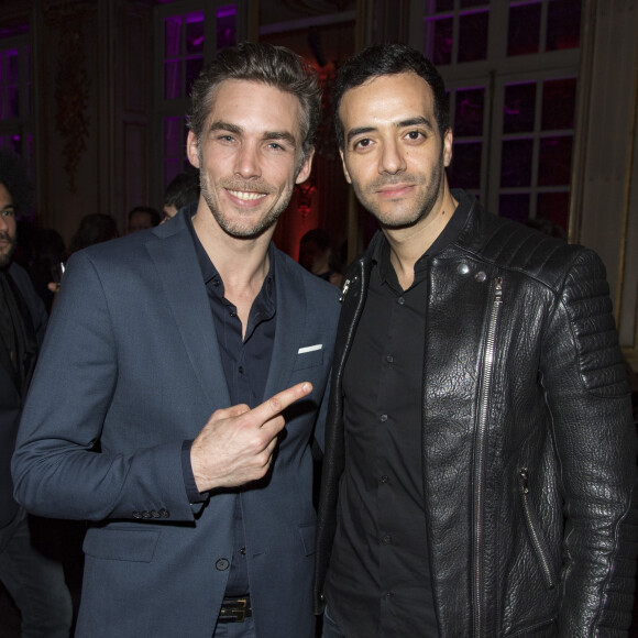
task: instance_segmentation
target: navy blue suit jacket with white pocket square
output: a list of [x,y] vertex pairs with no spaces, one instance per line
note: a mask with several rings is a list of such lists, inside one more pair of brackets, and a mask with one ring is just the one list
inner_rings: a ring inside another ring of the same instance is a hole
[[33,513],[94,521],[76,636],[210,638],[241,498],[257,636],[310,637],[309,443],[322,444],[339,290],[276,251],[265,398],[301,381],[314,391],[289,408],[264,481],[190,504],[183,441],[230,399],[183,215],[69,260],[23,413],[15,494]]

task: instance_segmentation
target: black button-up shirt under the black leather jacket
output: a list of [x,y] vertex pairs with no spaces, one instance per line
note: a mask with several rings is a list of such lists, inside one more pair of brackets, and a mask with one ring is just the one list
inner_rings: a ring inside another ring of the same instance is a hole
[[407,290],[385,239],[373,254],[343,373],[345,472],[326,583],[330,615],[353,638],[438,635],[421,451],[428,270],[459,234],[466,212],[458,209],[417,261]]

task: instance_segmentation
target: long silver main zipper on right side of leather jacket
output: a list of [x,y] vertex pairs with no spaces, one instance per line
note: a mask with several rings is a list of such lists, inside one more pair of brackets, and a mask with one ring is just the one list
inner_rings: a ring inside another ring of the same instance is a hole
[[487,430],[487,408],[494,369],[496,323],[503,306],[503,278],[497,277],[494,286],[492,314],[487,324],[485,358],[483,361],[483,387],[481,392],[479,427],[476,430],[476,457],[474,464],[474,632],[483,636],[483,463],[485,432]]

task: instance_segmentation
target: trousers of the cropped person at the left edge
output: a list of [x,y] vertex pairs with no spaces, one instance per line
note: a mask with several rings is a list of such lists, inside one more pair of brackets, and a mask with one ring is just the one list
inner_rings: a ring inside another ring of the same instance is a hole
[[0,529],[0,580],[22,615],[22,638],[68,638],[73,603],[63,566],[31,544],[22,507]]

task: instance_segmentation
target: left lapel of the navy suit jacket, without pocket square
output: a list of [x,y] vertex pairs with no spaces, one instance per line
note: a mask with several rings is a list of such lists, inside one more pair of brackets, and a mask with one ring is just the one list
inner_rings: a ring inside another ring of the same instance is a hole
[[146,248],[204,393],[212,406],[227,407],[230,397],[215,322],[193,238],[182,215],[157,227],[156,237]]

